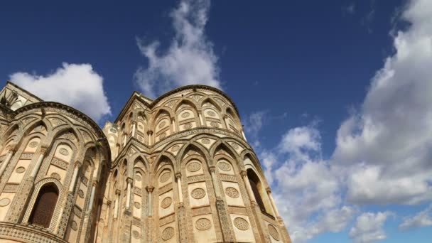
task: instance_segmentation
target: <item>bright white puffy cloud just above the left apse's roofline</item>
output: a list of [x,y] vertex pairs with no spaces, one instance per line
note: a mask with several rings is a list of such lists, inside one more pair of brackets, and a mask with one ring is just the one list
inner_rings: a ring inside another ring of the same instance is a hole
[[90,64],[63,63],[61,68],[45,76],[15,72],[10,80],[45,101],[68,104],[95,121],[111,114],[103,78]]

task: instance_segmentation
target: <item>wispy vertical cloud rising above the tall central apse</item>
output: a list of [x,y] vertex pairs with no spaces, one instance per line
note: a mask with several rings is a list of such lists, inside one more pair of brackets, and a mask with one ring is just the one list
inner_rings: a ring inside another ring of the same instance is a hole
[[175,36],[161,54],[159,43],[138,40],[148,67],[139,68],[135,80],[144,95],[156,97],[182,85],[203,84],[220,88],[217,56],[205,36],[210,0],[183,0],[171,12]]

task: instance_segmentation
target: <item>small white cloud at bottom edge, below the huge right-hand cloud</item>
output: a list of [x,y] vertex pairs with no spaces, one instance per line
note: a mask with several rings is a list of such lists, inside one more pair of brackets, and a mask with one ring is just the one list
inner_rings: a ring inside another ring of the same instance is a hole
[[387,235],[384,232],[384,223],[392,212],[364,212],[357,217],[355,226],[350,230],[350,237],[355,242],[367,243],[375,242],[380,239],[386,239]]

